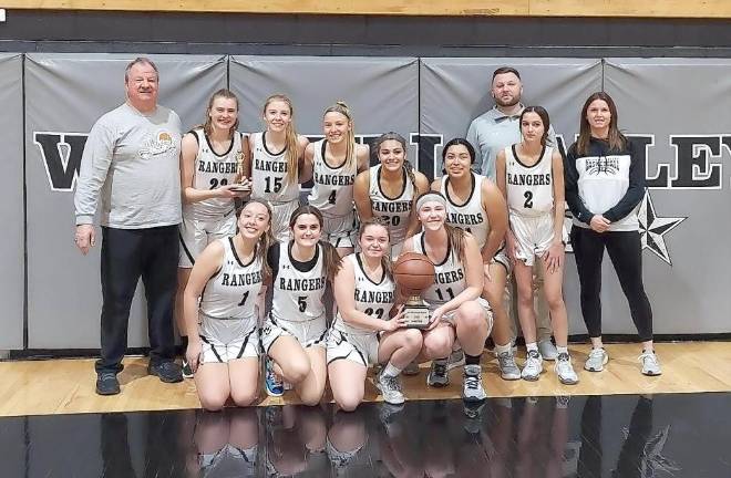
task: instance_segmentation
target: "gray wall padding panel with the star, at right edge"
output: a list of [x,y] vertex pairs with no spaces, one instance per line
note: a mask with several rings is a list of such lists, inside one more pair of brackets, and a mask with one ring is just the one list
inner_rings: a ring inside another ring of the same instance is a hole
[[[656,332],[729,332],[731,60],[607,59],[605,90],[622,128],[652,143],[642,260]],[[607,285],[607,299],[621,298]],[[608,332],[631,330],[625,301],[604,304],[606,318],[620,319]]]

